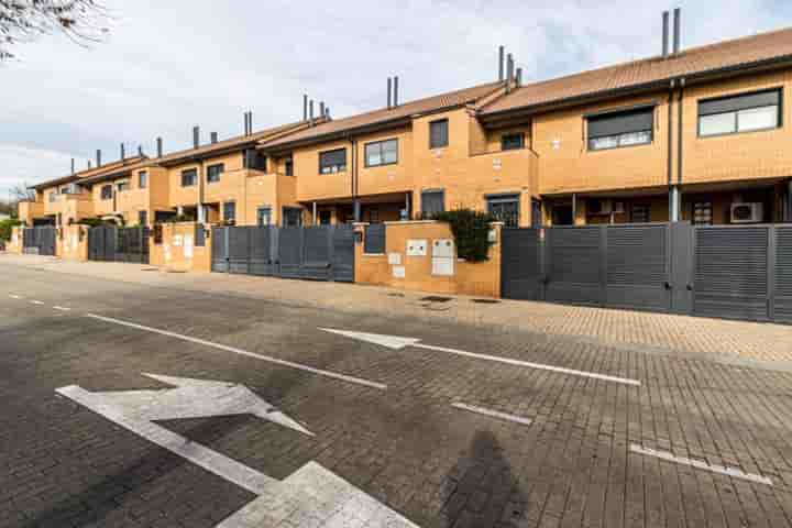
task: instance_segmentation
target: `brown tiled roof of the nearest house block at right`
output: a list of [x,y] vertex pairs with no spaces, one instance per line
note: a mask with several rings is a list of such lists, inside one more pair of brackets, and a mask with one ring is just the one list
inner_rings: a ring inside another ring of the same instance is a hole
[[678,55],[654,56],[575,75],[524,85],[480,109],[483,118],[496,113],[595,96],[619,89],[670,81],[682,76],[760,66],[792,58],[792,29],[691,47]]

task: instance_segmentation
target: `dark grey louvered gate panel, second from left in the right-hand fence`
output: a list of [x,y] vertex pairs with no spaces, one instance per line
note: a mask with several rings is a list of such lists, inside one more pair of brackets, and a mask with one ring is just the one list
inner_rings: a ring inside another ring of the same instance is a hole
[[602,237],[600,227],[546,230],[547,300],[602,305]]

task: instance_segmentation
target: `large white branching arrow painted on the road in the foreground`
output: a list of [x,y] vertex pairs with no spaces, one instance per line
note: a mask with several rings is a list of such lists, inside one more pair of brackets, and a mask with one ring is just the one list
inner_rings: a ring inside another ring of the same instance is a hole
[[308,518],[318,520],[316,526],[328,527],[416,526],[315,462],[278,481],[154,422],[254,415],[314,436],[248,387],[226,382],[144,375],[175,388],[91,393],[69,385],[56,392],[258,496],[217,528],[280,526],[282,522],[286,524],[284,526],[297,526],[299,522],[288,522]]

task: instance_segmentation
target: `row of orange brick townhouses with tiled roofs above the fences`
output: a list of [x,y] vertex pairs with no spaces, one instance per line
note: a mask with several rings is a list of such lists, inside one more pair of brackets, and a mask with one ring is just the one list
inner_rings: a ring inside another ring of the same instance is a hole
[[[664,18],[668,21],[668,16]],[[280,226],[471,207],[507,226],[792,221],[792,30],[524,82],[498,78],[45,182],[28,224]],[[391,81],[388,81],[388,85]],[[397,85],[396,85],[397,86]],[[160,150],[161,151],[161,150]]]

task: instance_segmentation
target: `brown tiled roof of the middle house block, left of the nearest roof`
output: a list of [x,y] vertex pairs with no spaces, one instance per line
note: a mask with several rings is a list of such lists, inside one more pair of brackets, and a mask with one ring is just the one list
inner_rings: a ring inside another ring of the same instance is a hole
[[503,86],[503,82],[487,82],[472,88],[464,88],[462,90],[449,91],[438,96],[404,102],[394,108],[381,108],[371,112],[351,116],[349,118],[327,121],[324,123],[307,128],[302,131],[295,132],[294,134],[288,134],[285,138],[266,142],[266,144],[262,144],[262,146],[283,147],[292,144],[310,143],[315,140],[323,140],[328,136],[351,132],[355,129],[408,119],[410,116],[417,113],[459,107],[476,101]]

